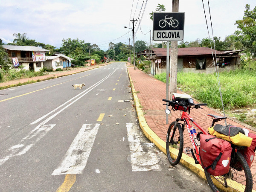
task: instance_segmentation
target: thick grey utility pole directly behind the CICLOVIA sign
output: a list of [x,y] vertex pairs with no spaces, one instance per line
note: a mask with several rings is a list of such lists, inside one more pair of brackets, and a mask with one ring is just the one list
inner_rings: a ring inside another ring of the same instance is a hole
[[[172,12],[179,12],[179,0],[172,0]],[[170,98],[177,92],[178,41],[171,41]]]

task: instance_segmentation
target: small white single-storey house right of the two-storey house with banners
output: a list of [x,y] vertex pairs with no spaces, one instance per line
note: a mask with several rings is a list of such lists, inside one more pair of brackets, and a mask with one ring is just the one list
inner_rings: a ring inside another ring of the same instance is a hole
[[55,71],[57,68],[71,67],[71,62],[73,58],[69,58],[66,55],[55,53],[52,56],[46,56],[46,61],[44,62],[44,67],[48,70]]

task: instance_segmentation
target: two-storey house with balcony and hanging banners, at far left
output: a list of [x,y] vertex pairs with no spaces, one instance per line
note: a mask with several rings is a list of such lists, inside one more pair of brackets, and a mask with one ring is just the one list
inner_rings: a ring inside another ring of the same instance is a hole
[[3,45],[3,48],[15,68],[22,65],[25,70],[34,71],[39,71],[44,67],[45,52],[49,51],[35,46]]

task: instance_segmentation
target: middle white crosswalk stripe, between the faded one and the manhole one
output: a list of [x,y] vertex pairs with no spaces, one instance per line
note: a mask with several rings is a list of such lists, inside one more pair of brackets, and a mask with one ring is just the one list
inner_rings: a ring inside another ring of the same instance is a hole
[[62,163],[55,169],[52,175],[81,174],[86,166],[90,151],[93,147],[99,125],[84,124],[70,148],[62,160]]

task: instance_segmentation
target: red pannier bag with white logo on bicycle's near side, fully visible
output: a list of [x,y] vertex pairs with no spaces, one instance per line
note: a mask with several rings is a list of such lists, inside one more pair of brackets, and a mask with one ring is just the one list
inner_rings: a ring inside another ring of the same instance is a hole
[[213,135],[200,134],[201,166],[213,176],[229,172],[232,147],[228,141]]

